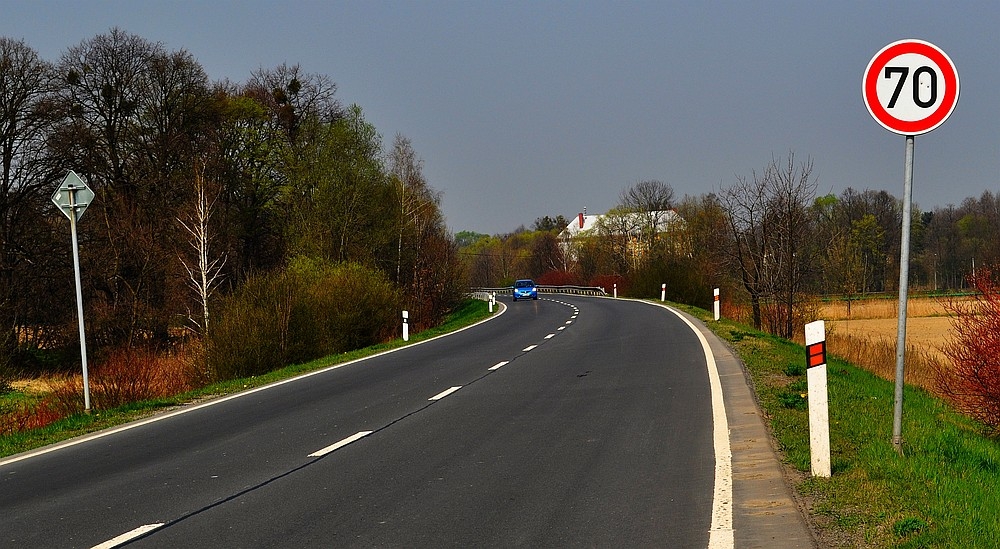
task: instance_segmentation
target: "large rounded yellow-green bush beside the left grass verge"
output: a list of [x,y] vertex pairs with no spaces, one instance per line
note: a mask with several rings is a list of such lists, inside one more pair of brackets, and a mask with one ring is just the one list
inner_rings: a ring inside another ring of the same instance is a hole
[[386,341],[398,302],[381,271],[296,259],[222,300],[206,345],[209,369],[220,380],[248,377]]

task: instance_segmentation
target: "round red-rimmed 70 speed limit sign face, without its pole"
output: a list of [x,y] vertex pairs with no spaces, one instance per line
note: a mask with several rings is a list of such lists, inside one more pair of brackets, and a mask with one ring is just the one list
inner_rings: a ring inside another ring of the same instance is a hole
[[958,104],[958,70],[940,48],[900,40],[868,63],[861,93],[872,118],[885,129],[919,135],[940,126]]

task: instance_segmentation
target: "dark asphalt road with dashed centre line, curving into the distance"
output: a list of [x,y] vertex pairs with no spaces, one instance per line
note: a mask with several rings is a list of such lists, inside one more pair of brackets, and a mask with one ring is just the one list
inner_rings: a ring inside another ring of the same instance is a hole
[[691,328],[624,300],[507,306],[0,462],[0,546],[707,547],[712,395]]

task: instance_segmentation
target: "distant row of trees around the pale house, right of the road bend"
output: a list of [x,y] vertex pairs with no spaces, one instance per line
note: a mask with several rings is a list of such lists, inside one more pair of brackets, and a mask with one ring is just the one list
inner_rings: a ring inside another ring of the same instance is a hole
[[[677,200],[668,184],[640,181],[572,241],[559,235],[575,218],[557,216],[506,235],[460,233],[459,244],[473,285],[531,276],[654,297],[666,283],[672,299],[698,305],[722,287],[748,305],[755,326],[791,336],[806,295],[850,300],[899,283],[901,201],[886,191],[816,191],[812,161],[789,152],[717,193]],[[666,210],[683,222],[664,229],[656,216]],[[977,262],[1000,260],[1000,196],[912,215],[911,288],[962,289]],[[645,221],[626,226],[636,219]]]

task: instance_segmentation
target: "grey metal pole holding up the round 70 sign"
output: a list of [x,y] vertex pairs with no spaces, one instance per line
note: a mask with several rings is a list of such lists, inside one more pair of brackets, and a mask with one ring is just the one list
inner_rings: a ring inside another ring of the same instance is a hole
[[910,279],[910,198],[913,194],[913,136],[906,136],[903,161],[903,235],[899,251],[899,325],[896,329],[896,404],[892,416],[892,445],[903,453],[903,379],[906,356],[906,300]]

